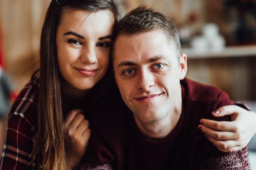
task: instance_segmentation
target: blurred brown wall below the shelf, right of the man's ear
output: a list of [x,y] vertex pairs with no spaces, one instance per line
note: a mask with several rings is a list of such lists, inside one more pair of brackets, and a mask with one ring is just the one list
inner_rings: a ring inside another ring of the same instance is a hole
[[233,101],[256,100],[256,56],[190,59],[187,77],[226,91]]

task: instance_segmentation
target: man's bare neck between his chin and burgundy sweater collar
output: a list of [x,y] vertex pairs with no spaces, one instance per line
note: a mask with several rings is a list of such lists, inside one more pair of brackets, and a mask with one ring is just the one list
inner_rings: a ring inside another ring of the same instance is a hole
[[140,122],[135,119],[140,131],[150,138],[164,138],[168,136],[177,125],[182,112],[182,97],[181,91],[178,95],[176,103],[171,107],[170,113],[166,114],[163,119],[154,122]]

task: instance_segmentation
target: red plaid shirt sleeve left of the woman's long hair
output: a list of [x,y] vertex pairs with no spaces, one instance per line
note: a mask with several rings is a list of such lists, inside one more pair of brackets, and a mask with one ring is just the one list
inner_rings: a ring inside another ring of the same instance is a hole
[[0,170],[34,170],[31,153],[37,135],[39,79],[21,90],[8,116]]

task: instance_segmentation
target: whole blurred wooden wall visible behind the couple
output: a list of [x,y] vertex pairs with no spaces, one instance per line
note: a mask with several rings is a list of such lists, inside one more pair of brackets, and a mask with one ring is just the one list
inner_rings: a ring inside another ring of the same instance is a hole
[[[0,0],[5,71],[11,76],[17,91],[39,67],[40,33],[50,1]],[[124,12],[140,4],[152,6],[170,17],[178,27],[191,24],[194,34],[198,34],[205,22],[217,22],[221,33],[229,31],[229,27],[225,26],[223,11],[221,12],[223,0],[117,0],[117,2],[123,6]],[[212,9],[212,6],[215,8]],[[188,16],[193,13],[198,16],[197,22],[192,24],[188,22]],[[248,66],[256,64],[255,59],[234,61],[232,59],[189,60],[188,77],[226,90],[233,100],[255,99],[251,91],[254,91],[253,94],[256,96],[254,87],[256,78],[250,78],[250,73],[255,72],[256,67]],[[246,90],[246,87],[249,89]]]

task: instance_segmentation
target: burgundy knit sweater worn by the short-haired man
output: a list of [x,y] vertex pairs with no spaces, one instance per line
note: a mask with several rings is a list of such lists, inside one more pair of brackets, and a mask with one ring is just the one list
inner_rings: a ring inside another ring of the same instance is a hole
[[233,104],[228,95],[189,79],[181,88],[181,117],[163,139],[143,136],[120,97],[102,103],[90,118],[92,134],[80,170],[251,170],[247,148],[222,153],[197,129],[201,118],[230,119],[211,114]]

